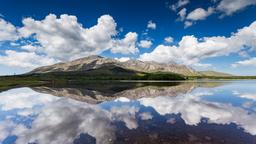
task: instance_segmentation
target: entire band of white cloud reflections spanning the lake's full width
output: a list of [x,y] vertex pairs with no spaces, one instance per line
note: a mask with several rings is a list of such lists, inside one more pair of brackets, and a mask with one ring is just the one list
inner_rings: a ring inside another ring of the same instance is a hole
[[[215,95],[212,89],[196,89],[177,96],[120,97],[102,104],[88,104],[29,88],[13,89],[0,93],[0,142],[15,135],[17,144],[73,143],[81,134],[87,134],[98,144],[114,143],[120,128],[117,123],[121,122],[127,130],[135,130],[141,128],[140,121],[153,122],[155,113],[163,117],[180,115],[191,126],[199,125],[204,118],[212,124],[234,123],[256,135],[254,111],[204,99]],[[31,121],[20,121],[20,117]],[[166,122],[177,124],[174,118]]]

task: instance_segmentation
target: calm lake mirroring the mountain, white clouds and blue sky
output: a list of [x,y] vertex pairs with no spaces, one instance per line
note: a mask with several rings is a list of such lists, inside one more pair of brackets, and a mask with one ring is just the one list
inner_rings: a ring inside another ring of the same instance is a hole
[[2,144],[255,144],[256,81],[92,82],[0,92]]

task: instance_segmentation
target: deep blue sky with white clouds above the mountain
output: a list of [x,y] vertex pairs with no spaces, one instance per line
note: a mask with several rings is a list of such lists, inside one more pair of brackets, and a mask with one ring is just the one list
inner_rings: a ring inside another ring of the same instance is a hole
[[256,75],[256,0],[0,3],[0,75],[89,55]]

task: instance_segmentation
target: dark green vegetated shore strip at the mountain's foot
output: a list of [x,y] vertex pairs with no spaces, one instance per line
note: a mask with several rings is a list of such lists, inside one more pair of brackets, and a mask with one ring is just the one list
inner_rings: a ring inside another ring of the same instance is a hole
[[46,74],[26,74],[0,77],[0,91],[21,86],[66,85],[87,83],[89,81],[119,80],[185,80],[175,73],[136,73],[133,71],[109,70],[86,72],[55,72]]

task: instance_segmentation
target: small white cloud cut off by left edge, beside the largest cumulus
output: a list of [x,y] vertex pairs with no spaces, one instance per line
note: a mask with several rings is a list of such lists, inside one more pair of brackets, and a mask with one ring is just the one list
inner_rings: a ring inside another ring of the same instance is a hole
[[16,27],[0,18],[0,41],[13,41],[18,39]]

